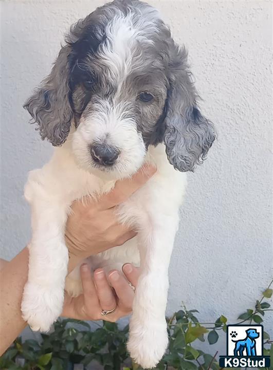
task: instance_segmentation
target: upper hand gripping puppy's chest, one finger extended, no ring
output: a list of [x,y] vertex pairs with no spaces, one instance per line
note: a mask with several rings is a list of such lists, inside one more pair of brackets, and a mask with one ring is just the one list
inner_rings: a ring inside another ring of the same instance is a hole
[[154,167],[145,164],[132,178],[117,181],[115,188],[98,200],[86,198],[85,202],[78,200],[72,204],[65,231],[70,258],[76,257],[79,263],[91,254],[122,245],[135,236],[133,230],[119,223],[115,207],[128,199],[155,172]]

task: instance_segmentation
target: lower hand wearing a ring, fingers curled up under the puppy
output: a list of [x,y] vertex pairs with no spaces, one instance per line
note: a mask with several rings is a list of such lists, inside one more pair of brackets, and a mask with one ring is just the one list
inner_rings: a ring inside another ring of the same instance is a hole
[[[108,283],[103,269],[94,272],[94,280],[87,264],[81,266],[81,279],[83,293],[76,298],[65,293],[62,316],[77,320],[106,320],[115,322],[119,318],[129,315],[132,311],[134,290],[129,285],[136,287],[139,270],[131,264],[122,266],[126,279],[117,270],[108,273]],[[102,316],[102,310],[113,310]]]

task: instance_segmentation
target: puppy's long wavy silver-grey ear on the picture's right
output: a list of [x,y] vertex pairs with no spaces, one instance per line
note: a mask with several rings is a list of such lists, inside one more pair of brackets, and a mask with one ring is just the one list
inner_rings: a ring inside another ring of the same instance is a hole
[[169,162],[181,172],[193,171],[206,158],[214,139],[213,124],[199,112],[185,48],[170,45],[165,145]]

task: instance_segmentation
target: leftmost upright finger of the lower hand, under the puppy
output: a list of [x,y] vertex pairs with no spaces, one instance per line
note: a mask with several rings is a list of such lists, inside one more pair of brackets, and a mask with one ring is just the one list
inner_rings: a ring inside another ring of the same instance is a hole
[[87,264],[81,266],[81,279],[82,279],[82,290],[83,297],[86,306],[88,307],[100,307],[97,290],[92,279],[90,268]]

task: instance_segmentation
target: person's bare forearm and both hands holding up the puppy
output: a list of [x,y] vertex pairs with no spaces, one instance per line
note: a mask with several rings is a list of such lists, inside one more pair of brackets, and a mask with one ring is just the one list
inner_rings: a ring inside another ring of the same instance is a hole
[[[72,205],[65,233],[69,251],[68,272],[90,254],[121,245],[135,235],[134,231],[118,223],[115,207],[129,198],[155,171],[155,168],[145,166],[131,179],[117,181],[115,188],[98,200],[77,201]],[[21,301],[28,276],[28,248],[24,248],[10,262],[2,262],[2,266],[0,354],[5,352],[27,325],[22,319]],[[116,321],[128,315],[134,298],[134,291],[128,282],[136,286],[138,270],[131,264],[125,264],[123,273],[126,279],[117,270],[112,270],[108,273],[107,280],[103,269],[95,270],[92,276],[83,264],[83,294],[71,298],[65,293],[62,316],[79,320],[101,320],[101,310],[113,308],[116,308],[115,312],[105,316],[104,320]]]

